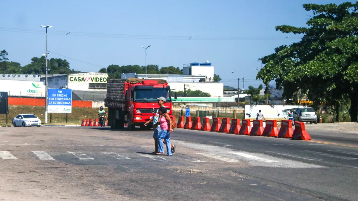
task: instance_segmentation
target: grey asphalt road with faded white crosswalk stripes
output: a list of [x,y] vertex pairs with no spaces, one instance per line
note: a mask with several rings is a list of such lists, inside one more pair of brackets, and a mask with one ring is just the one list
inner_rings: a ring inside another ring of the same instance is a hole
[[175,129],[0,128],[0,200],[358,200],[358,134],[311,141]]

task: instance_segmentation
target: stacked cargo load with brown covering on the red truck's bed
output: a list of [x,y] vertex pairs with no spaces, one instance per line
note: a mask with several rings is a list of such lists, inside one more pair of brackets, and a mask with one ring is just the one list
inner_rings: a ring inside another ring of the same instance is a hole
[[[105,99],[106,107],[119,107],[124,108],[125,102],[125,83],[131,84],[141,83],[145,79],[128,78],[128,79],[110,79],[107,82],[107,98]],[[165,84],[164,79],[151,79],[156,80],[159,84]]]

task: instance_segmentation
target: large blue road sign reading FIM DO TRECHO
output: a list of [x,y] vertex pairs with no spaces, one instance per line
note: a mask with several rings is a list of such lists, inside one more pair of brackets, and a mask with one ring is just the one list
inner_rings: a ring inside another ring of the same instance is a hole
[[72,89],[48,89],[47,112],[71,113]]

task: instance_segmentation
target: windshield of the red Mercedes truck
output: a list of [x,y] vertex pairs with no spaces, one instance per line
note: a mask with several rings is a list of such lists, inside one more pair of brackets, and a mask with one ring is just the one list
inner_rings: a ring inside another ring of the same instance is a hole
[[153,88],[153,90],[135,90],[135,101],[148,101],[148,102],[157,102],[159,97],[165,97],[167,101],[171,101],[170,92],[166,88]]

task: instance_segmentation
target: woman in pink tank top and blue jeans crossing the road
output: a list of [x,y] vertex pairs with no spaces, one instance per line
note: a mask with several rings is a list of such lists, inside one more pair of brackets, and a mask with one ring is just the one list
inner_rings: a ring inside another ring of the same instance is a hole
[[[170,133],[173,132],[173,129],[171,129],[171,119],[169,114],[166,113],[166,109],[164,107],[159,108],[159,115],[159,121],[155,124],[155,126],[160,124],[161,128],[161,131],[158,134],[159,153],[156,155],[171,156]],[[166,144],[166,154],[164,154],[163,139]]]

